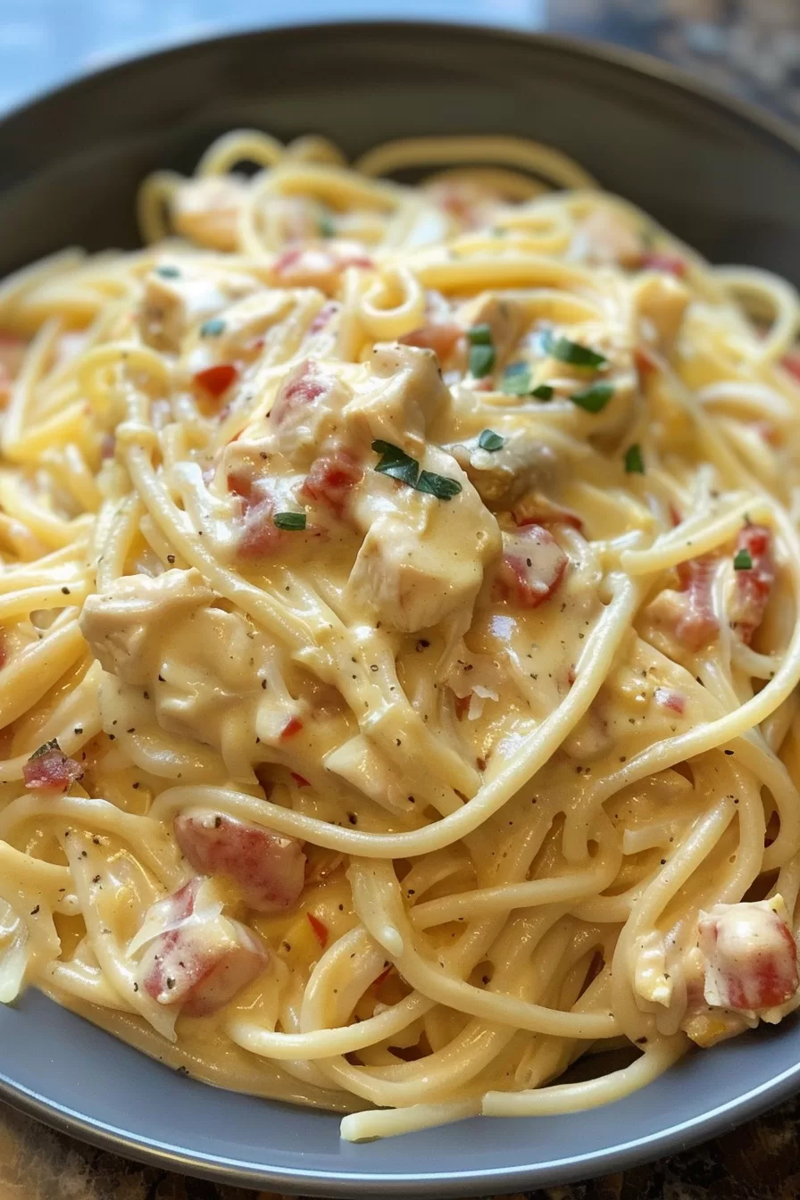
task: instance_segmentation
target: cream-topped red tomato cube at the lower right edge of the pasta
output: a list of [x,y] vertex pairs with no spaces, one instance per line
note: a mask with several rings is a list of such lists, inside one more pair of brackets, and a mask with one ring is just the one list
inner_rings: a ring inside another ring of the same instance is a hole
[[757,1013],[792,1000],[800,985],[798,947],[775,911],[777,900],[718,904],[710,913],[700,913],[706,1003]]

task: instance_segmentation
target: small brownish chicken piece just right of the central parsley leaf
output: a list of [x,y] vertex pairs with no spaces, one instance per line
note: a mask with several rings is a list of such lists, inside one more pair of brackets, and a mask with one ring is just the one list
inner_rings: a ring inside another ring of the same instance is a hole
[[506,434],[500,450],[481,450],[477,443],[458,443],[449,449],[483,503],[492,508],[513,504],[555,476],[555,452],[527,430]]

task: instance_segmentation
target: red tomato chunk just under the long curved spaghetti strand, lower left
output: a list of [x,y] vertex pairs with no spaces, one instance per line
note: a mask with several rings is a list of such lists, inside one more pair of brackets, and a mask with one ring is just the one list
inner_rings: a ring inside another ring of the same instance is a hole
[[300,896],[306,856],[295,838],[210,809],[179,814],[174,829],[194,870],[233,880],[257,912],[282,912]]

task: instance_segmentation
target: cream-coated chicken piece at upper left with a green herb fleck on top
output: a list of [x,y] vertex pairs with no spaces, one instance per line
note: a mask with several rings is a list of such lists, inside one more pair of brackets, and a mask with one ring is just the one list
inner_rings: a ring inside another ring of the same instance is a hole
[[190,329],[222,312],[231,300],[255,289],[247,275],[224,276],[185,264],[163,263],[144,280],[137,322],[142,338],[156,350],[178,354]]

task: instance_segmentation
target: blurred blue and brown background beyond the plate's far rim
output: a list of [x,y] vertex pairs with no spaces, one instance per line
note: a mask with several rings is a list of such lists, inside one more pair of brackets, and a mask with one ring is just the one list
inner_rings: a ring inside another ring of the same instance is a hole
[[162,46],[392,14],[618,42],[800,119],[800,0],[403,0],[399,10],[381,0],[0,0],[0,110]]

